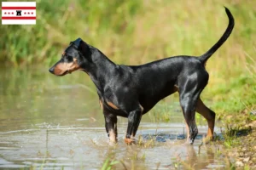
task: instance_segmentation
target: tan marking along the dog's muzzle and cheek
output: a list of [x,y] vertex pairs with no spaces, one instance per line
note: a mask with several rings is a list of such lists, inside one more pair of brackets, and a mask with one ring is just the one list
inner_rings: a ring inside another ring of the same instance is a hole
[[73,59],[73,62],[71,63],[59,63],[58,65],[55,65],[55,75],[63,75],[66,71],[67,73],[72,73],[73,71],[79,70],[79,64],[77,62],[77,59]]

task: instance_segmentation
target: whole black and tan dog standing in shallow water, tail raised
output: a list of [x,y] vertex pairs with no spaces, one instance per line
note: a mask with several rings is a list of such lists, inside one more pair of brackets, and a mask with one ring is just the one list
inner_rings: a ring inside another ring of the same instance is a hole
[[209,74],[207,59],[230,37],[235,21],[228,8],[229,26],[224,35],[207,53],[199,57],[174,56],[156,60],[145,65],[115,65],[102,52],[81,38],[70,42],[49,72],[64,76],[73,71],[86,72],[95,83],[109,140],[117,142],[117,116],[128,118],[125,143],[131,144],[143,114],[150,111],[160,99],[175,92],[185,118],[188,142],[193,144],[198,133],[195,111],[207,119],[207,139],[213,139],[215,113],[200,99],[207,86]]

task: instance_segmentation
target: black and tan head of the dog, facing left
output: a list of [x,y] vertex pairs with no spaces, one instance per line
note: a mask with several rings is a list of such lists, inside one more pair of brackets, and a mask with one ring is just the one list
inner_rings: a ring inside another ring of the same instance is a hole
[[84,67],[91,61],[90,46],[81,38],[70,42],[69,46],[61,55],[61,59],[55,63],[49,72],[56,76],[65,76]]

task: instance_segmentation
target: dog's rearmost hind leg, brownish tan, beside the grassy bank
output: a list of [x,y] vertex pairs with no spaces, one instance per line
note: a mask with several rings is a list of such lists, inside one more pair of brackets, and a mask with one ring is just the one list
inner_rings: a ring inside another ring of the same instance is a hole
[[197,100],[195,111],[207,119],[207,123],[208,123],[208,132],[207,132],[207,138],[206,138],[207,141],[213,139],[213,131],[214,131],[214,123],[215,123],[214,111],[210,110],[206,105],[204,105],[204,103],[200,98]]

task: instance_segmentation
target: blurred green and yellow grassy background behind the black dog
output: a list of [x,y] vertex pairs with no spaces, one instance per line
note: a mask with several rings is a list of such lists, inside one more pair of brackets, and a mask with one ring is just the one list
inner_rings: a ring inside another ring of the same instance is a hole
[[207,62],[210,81],[202,98],[212,101],[219,113],[247,114],[256,109],[256,1],[252,0],[38,0],[37,25],[0,26],[1,65],[18,69],[37,65],[47,71],[78,37],[117,64],[201,55],[228,25],[223,6],[230,8],[236,26]]

